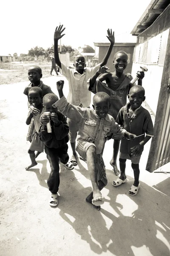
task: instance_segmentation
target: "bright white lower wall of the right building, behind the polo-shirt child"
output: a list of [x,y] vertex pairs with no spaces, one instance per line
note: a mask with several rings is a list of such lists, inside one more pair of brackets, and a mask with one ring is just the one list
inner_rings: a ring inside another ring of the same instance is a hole
[[[157,64],[144,64],[148,68],[145,72],[142,86],[145,90],[146,102],[152,109],[153,113],[156,114],[156,108],[158,105],[159,91],[161,88],[161,79],[163,73],[163,66]],[[140,68],[140,63],[133,63],[132,76],[136,75],[136,72]],[[136,82],[137,84],[137,82]]]

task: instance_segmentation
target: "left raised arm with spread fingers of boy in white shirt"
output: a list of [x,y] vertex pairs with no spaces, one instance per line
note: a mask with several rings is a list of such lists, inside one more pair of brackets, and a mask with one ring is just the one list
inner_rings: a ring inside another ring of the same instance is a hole
[[61,35],[61,33],[65,30],[62,29],[63,25],[59,25],[59,27],[57,26],[55,32],[54,32],[54,59],[55,59],[55,63],[59,66],[59,68],[61,68],[61,61],[59,59],[59,53],[58,53],[58,41],[60,38],[63,37],[63,35]]

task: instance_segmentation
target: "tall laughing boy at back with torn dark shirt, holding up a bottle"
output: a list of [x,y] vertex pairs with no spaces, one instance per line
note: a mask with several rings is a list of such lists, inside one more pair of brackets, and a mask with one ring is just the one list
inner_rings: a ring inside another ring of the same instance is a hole
[[[93,79],[88,83],[88,90],[93,93],[104,91],[108,93],[111,100],[111,108],[109,114],[116,119],[119,110],[126,105],[127,102],[127,94],[130,88],[135,85],[130,85],[130,81],[133,79],[130,73],[124,73],[125,68],[127,67],[127,53],[124,51],[116,52],[114,55],[113,65],[115,67],[115,71],[113,73],[108,72],[108,70],[99,70],[96,72]],[[102,76],[97,79],[97,77],[104,73]],[[144,72],[140,72],[141,75],[136,74],[138,79],[138,85],[142,85],[142,79],[144,78]],[[106,81],[104,84],[102,81]],[[117,155],[119,151],[120,138],[118,136],[113,136],[113,157],[110,161],[111,166],[116,175],[119,174],[119,170],[117,168]]]

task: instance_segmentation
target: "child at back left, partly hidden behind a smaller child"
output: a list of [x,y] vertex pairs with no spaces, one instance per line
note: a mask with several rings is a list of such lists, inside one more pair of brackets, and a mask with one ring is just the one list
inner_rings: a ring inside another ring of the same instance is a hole
[[[28,97],[29,90],[34,87],[40,87],[42,89],[42,97],[47,93],[53,93],[51,88],[48,85],[43,84],[41,81],[42,78],[42,70],[38,66],[32,66],[28,69],[28,79],[30,80],[30,84],[26,86],[24,90],[24,94]],[[28,98],[28,107],[29,107],[29,98]],[[34,119],[32,118],[31,123],[29,125],[27,140],[32,141],[32,138],[35,134],[35,127],[34,127]]]

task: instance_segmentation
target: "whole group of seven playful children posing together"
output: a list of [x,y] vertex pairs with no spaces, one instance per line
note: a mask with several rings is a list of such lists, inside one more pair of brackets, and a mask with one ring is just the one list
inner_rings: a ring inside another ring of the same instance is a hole
[[[28,70],[31,84],[24,93],[28,96],[30,104],[26,123],[35,132],[31,137],[28,154],[31,165],[26,170],[37,165],[36,157],[45,148],[45,153],[51,166],[48,178],[48,187],[51,191],[50,205],[58,204],[59,189],[59,162],[67,169],[77,165],[77,152],[80,159],[87,163],[93,191],[87,196],[86,201],[93,204],[96,209],[104,203],[101,190],[107,185],[105,164],[102,158],[105,143],[113,138],[113,158],[111,166],[116,175],[119,170],[116,159],[120,146],[119,165],[120,177],[113,180],[113,186],[119,186],[127,181],[125,175],[126,160],[132,162],[134,183],[129,190],[133,196],[139,190],[139,160],[145,143],[153,136],[153,123],[149,112],[141,105],[145,100],[142,87],[143,72],[138,72],[138,85],[130,85],[132,76],[125,74],[127,67],[127,54],[123,51],[114,55],[113,64],[115,72],[109,72],[105,67],[114,45],[114,32],[108,29],[107,38],[111,42],[108,52],[102,62],[96,67],[88,68],[85,58],[78,55],[75,58],[75,69],[66,67],[59,60],[58,40],[62,38],[62,25],[54,33],[54,58],[62,74],[68,79],[69,93],[66,99],[63,95],[64,81],[57,81],[59,98],[51,88],[40,81],[42,71],[34,66]],[[102,76],[98,76],[103,74]],[[105,81],[106,83],[104,83]],[[93,108],[91,104],[93,92]],[[129,102],[127,103],[127,96]],[[126,104],[127,103],[127,104]],[[48,115],[46,112],[50,112]],[[66,120],[66,117],[67,120]],[[116,120],[116,122],[115,122]],[[48,123],[51,124],[51,133],[48,132]],[[146,136],[145,136],[146,134]],[[73,155],[70,162],[68,156],[68,140],[70,140]],[[77,140],[77,147],[76,147]],[[37,154],[35,154],[37,151]]]

